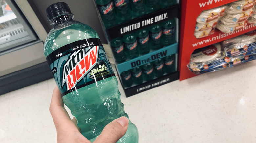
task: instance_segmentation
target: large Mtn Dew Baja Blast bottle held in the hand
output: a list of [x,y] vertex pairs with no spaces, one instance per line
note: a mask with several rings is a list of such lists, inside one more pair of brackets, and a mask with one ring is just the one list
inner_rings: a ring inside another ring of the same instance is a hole
[[[98,34],[88,25],[73,21],[63,2],[46,9],[49,32],[44,54],[65,105],[77,119],[81,133],[91,142],[103,128],[124,112],[115,74]],[[129,121],[126,134],[118,143],[138,143],[138,130]]]

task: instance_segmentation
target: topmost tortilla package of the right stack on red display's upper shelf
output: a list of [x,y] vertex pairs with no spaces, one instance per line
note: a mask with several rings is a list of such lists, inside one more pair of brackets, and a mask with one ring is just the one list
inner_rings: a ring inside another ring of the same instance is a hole
[[230,14],[242,13],[246,10],[253,8],[254,0],[238,0],[226,5],[225,12]]

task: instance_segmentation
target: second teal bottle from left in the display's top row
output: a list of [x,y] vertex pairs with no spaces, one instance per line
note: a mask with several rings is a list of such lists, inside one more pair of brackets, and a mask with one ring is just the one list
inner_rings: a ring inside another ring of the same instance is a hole
[[117,12],[117,22],[123,23],[132,19],[129,0],[113,0]]

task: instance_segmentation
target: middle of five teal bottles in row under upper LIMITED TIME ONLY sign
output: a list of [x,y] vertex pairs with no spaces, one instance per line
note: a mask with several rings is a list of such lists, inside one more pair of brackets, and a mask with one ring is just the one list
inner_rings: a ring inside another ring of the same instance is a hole
[[138,49],[141,55],[147,54],[150,51],[149,46],[149,32],[147,29],[136,31]]

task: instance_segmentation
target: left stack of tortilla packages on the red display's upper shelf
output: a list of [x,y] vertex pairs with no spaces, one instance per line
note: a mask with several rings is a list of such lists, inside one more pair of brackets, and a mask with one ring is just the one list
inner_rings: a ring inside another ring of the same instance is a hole
[[197,17],[194,35],[196,38],[203,38],[212,35],[215,31],[217,21],[224,15],[225,6],[202,11]]

